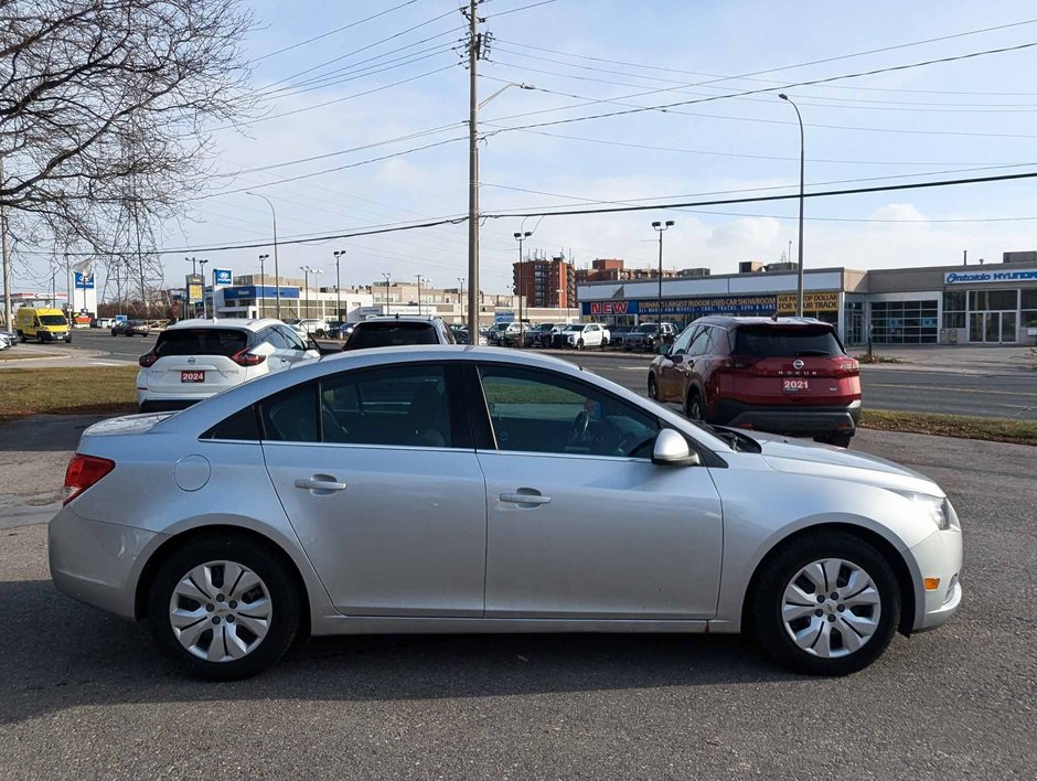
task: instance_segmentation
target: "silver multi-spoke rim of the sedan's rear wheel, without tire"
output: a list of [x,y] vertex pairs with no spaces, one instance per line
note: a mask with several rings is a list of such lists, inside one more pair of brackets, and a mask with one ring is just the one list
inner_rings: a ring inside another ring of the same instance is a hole
[[194,656],[232,662],[255,651],[270,628],[272,605],[263,579],[235,561],[201,564],[173,589],[173,635]]

